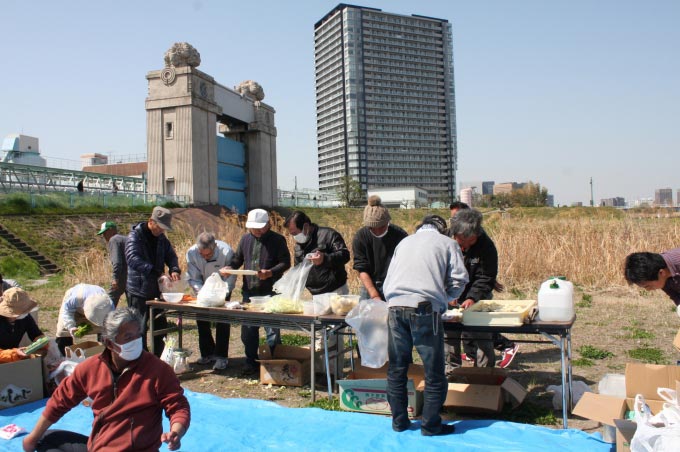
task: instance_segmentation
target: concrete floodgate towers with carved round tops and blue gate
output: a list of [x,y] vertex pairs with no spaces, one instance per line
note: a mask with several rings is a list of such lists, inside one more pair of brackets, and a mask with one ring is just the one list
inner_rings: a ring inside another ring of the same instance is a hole
[[[274,109],[251,80],[227,88],[196,69],[187,43],[146,75],[148,191],[239,213],[277,200]],[[223,136],[218,136],[218,132]]]

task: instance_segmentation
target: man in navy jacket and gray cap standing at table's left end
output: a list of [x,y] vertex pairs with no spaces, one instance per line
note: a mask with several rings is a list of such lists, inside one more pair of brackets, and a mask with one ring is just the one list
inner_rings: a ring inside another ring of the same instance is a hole
[[[128,306],[137,309],[144,317],[145,349],[146,332],[149,329],[149,307],[146,302],[160,297],[158,278],[164,274],[166,265],[173,281],[179,281],[181,273],[177,253],[165,236],[165,231],[172,231],[172,213],[165,207],[156,206],[147,221],[132,227],[125,242],[125,260],[128,265],[125,296]],[[165,315],[151,321],[154,322],[154,330],[168,326]],[[154,353],[160,356],[163,353],[163,337],[156,336],[153,341]]]

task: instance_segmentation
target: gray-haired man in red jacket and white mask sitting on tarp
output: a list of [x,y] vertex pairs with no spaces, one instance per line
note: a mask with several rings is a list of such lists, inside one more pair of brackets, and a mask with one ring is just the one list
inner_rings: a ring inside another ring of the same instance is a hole
[[[35,450],[169,450],[181,447],[189,428],[189,402],[174,371],[143,351],[143,318],[134,308],[111,311],[104,320],[106,349],[76,366],[57,387],[33,430],[24,438],[24,451]],[[49,430],[86,397],[92,399],[89,438],[64,430]],[[170,419],[163,432],[162,414]]]

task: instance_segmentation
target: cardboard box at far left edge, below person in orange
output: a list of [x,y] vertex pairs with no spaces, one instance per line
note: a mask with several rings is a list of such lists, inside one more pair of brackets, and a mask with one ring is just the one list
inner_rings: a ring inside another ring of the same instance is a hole
[[0,364],[0,410],[43,398],[42,358]]

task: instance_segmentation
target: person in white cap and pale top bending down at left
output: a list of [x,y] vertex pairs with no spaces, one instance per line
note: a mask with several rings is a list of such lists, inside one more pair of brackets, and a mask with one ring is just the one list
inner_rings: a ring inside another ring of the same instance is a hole
[[113,309],[113,302],[102,287],[76,284],[67,290],[57,320],[56,341],[61,354],[73,345],[78,327],[89,324],[87,334],[99,333],[104,317]]

